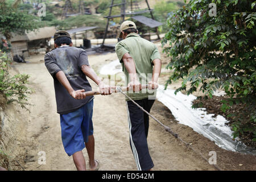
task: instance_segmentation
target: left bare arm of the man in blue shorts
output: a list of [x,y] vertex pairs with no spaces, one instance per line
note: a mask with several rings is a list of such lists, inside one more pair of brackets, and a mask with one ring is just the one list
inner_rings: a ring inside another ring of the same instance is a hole
[[64,86],[65,89],[68,90],[68,93],[75,99],[84,99],[86,97],[86,94],[84,93],[85,90],[73,90],[72,86],[70,85],[68,78],[65,76],[65,73],[63,71],[59,71],[55,74],[55,77],[61,85]]

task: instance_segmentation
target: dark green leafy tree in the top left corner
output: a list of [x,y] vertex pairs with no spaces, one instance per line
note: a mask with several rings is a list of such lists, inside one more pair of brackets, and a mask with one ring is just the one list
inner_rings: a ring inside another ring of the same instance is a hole
[[0,5],[0,32],[11,38],[11,32],[23,34],[36,28],[34,16],[26,12],[14,9],[11,5],[1,3]]

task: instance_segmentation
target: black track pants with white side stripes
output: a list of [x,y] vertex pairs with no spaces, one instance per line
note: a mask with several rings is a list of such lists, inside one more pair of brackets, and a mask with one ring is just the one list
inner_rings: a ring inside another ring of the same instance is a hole
[[[149,113],[155,100],[146,98],[135,102]],[[146,171],[154,167],[147,146],[148,115],[131,101],[127,101],[127,107],[131,150],[138,170]]]

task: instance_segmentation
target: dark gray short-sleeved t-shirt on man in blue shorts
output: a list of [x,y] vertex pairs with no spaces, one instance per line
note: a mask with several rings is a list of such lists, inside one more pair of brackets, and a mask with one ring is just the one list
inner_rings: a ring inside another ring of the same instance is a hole
[[71,113],[94,98],[88,96],[84,100],[76,100],[55,77],[55,73],[63,71],[74,90],[85,89],[85,92],[92,90],[89,81],[81,71],[82,65],[89,65],[84,49],[69,46],[53,49],[44,56],[44,64],[53,77],[57,113]]

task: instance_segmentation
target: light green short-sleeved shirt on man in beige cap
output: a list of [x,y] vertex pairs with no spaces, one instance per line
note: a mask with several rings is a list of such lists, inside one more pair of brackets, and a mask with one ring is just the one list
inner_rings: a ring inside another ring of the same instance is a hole
[[[125,73],[126,83],[129,83],[129,73],[123,64],[122,57],[125,53],[129,53],[133,57],[136,72],[139,76],[139,81],[142,85],[147,84],[152,79],[153,65],[152,61],[160,59],[160,53],[154,43],[149,42],[146,39],[141,38],[136,33],[127,35],[126,39],[117,43],[115,46],[115,52],[117,53],[118,59],[122,64],[123,72]],[[142,90],[140,93],[129,93],[128,96],[133,100],[142,100],[148,98],[149,95],[154,93],[148,93]],[[126,100],[128,100],[126,98]]]

